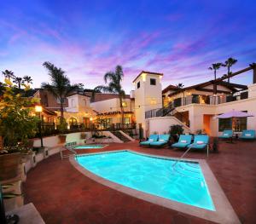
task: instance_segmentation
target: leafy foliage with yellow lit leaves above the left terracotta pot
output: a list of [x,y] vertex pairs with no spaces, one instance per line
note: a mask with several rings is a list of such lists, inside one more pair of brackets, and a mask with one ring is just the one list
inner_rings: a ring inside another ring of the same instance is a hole
[[[32,106],[38,100],[15,94],[13,83],[8,78],[3,86],[3,98],[0,101],[0,135],[3,136],[4,145],[13,150],[13,146],[19,141],[26,143],[29,137],[36,134],[38,118],[32,116],[31,112]],[[24,90],[29,90],[29,87],[25,86]]]

